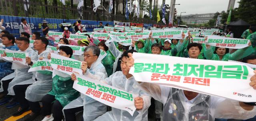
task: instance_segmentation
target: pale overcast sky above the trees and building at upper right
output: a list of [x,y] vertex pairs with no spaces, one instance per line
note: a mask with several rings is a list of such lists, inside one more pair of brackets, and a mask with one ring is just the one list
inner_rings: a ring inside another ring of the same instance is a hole
[[[239,1],[236,0],[234,8],[238,8]],[[182,15],[216,13],[227,11],[228,2],[229,0],[176,0],[175,4],[180,5],[176,5],[175,8],[178,16],[180,16],[180,12],[186,12]],[[165,3],[170,6],[171,0],[166,0]],[[158,5],[162,5],[162,0],[158,0]]]

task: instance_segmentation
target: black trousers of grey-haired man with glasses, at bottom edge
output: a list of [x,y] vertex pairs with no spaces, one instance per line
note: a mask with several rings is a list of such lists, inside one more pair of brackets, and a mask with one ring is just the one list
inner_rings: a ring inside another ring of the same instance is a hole
[[83,110],[83,106],[71,109],[64,109],[65,121],[76,121],[76,113]]

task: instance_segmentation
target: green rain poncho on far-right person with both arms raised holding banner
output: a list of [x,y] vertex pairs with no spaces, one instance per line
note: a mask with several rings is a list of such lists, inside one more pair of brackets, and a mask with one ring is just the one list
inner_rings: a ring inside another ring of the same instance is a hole
[[[206,47],[206,49],[204,50],[204,57],[207,60],[220,60],[220,57],[217,54],[214,54],[214,51],[212,50],[212,46],[210,46],[209,48]],[[234,52],[232,54],[229,54],[229,53],[225,54],[222,57],[222,61],[240,60],[246,56],[249,56],[253,52],[255,52],[255,50],[251,46],[242,48],[242,49],[238,49],[238,50],[236,50],[236,52]]]

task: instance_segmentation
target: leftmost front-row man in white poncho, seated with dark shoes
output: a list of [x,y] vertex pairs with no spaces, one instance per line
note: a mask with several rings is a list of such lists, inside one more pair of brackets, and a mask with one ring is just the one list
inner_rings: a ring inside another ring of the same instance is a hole
[[[20,37],[16,39],[18,45],[18,52],[26,52],[32,60],[37,60],[36,52],[29,48],[29,39],[25,37]],[[3,55],[4,57],[6,54]],[[8,61],[8,60],[5,60]],[[12,62],[12,61],[11,61]],[[1,101],[0,105],[3,105],[9,101],[7,108],[14,107],[18,103],[14,97],[15,93],[13,87],[20,84],[29,84],[33,83],[36,77],[32,77],[32,72],[28,72],[30,65],[23,65],[18,62],[12,62],[12,69],[15,69],[15,77],[13,79],[3,80],[2,87],[0,90],[3,90],[7,94]],[[11,74],[10,74],[11,75]],[[8,75],[7,75],[8,76]]]

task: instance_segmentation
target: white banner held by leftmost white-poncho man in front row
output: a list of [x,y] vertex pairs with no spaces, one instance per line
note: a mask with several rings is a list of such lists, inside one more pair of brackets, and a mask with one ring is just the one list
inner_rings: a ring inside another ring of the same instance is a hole
[[9,61],[16,61],[23,65],[27,65],[26,57],[28,56],[28,53],[13,51],[9,49],[6,49],[5,53],[6,53],[6,57],[3,57],[4,59]]

